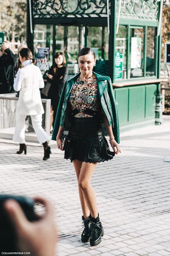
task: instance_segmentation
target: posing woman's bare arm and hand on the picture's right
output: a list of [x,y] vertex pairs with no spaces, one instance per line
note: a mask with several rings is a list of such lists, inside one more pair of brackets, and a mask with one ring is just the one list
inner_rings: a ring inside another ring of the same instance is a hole
[[[104,116],[103,116],[103,122],[104,122],[104,124],[105,124],[105,126],[106,126],[106,129],[107,129],[107,131],[108,131],[108,134],[109,134],[109,141],[110,141],[110,145],[111,145],[111,147],[113,148],[113,151],[115,152],[115,154],[117,155],[119,152],[121,153],[121,151],[120,151],[120,148],[119,148],[119,145],[118,145],[118,143],[115,141],[115,137],[114,137],[114,135],[113,135],[113,130],[112,130],[112,126],[110,126],[109,125],[109,121],[108,121],[108,118],[107,118],[107,116],[105,115],[105,112],[103,111],[103,108],[102,108],[102,114],[104,114]],[[116,147],[116,150],[115,150],[115,147]]]

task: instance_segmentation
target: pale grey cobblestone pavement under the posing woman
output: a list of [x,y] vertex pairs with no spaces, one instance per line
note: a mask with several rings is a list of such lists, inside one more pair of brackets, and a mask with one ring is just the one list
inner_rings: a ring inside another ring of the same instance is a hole
[[[121,134],[122,153],[100,163],[92,178],[105,230],[102,242],[81,242],[81,207],[76,175],[51,142],[50,160],[43,147],[0,140],[1,193],[44,196],[54,203],[59,240],[56,255],[170,255],[170,117],[161,126]],[[38,211],[43,211],[41,206]]]

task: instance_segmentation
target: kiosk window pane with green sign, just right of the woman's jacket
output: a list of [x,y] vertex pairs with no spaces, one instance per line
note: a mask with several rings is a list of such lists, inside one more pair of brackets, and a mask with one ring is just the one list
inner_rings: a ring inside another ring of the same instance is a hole
[[127,27],[119,26],[115,47],[115,79],[126,79],[126,37]]

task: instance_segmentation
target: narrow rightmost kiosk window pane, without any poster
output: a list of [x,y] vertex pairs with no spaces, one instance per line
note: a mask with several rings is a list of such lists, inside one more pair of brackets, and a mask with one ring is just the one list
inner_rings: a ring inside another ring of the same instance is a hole
[[147,27],[146,76],[155,75],[155,28]]

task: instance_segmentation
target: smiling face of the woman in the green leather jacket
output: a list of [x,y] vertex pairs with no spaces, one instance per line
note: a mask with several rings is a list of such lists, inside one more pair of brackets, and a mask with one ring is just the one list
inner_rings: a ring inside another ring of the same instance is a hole
[[83,75],[88,75],[88,73],[91,73],[95,63],[96,60],[94,59],[94,56],[91,53],[80,56],[78,58],[79,69]]

